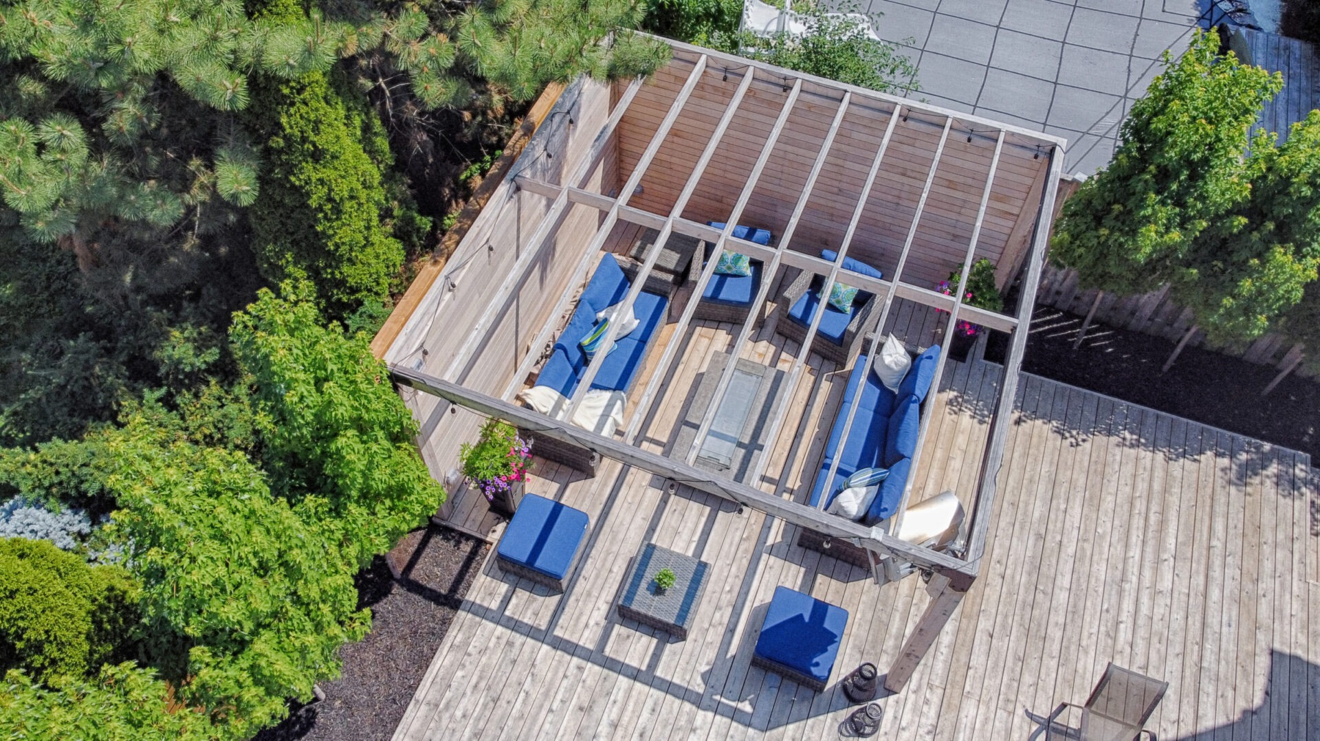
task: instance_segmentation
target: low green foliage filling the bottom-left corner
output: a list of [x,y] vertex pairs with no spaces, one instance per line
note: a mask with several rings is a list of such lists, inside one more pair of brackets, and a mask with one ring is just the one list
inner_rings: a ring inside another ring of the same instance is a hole
[[106,666],[95,679],[58,689],[11,671],[0,687],[0,734],[79,741],[199,741],[222,738],[210,716],[166,704],[172,688],[132,662]]

